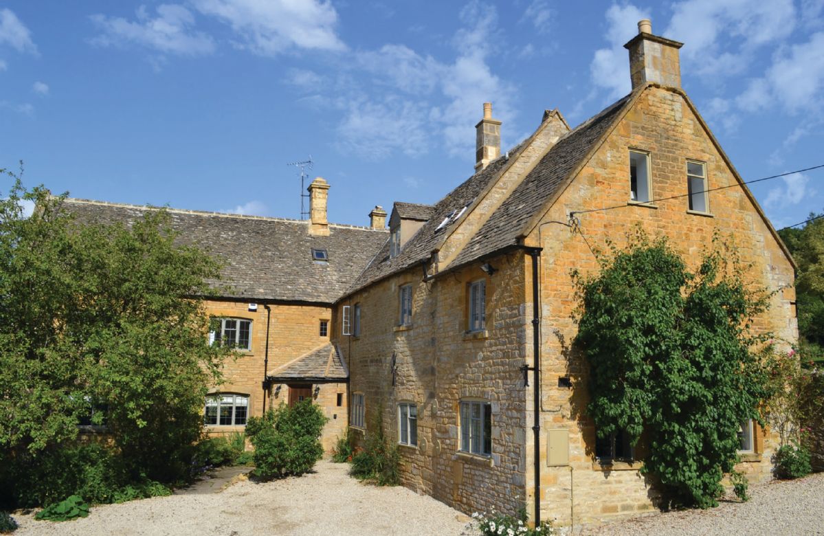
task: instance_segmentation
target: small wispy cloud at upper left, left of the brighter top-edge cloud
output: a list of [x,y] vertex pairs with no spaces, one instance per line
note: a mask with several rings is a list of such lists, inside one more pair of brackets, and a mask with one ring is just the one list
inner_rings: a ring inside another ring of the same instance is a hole
[[188,56],[211,54],[215,49],[211,36],[193,30],[194,16],[183,6],[162,4],[157,7],[157,16],[150,16],[141,6],[136,15],[137,21],[92,15],[91,21],[102,33],[91,42],[101,46],[138,44],[164,54]]

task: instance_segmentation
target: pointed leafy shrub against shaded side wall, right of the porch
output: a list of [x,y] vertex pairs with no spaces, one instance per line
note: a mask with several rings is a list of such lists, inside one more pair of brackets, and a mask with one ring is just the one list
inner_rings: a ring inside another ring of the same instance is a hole
[[349,474],[358,480],[375,482],[378,486],[397,486],[400,484],[400,453],[398,445],[386,439],[381,414],[378,408],[363,442],[363,450],[352,456]]

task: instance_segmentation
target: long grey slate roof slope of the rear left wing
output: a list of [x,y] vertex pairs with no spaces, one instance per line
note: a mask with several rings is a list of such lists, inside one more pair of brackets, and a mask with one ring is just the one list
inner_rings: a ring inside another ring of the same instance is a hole
[[[80,223],[130,222],[157,207],[68,198],[63,208]],[[223,297],[240,300],[334,303],[386,242],[388,233],[330,224],[329,236],[310,235],[308,221],[165,209],[181,244],[198,245],[224,263]],[[325,249],[328,262],[312,259]],[[212,282],[218,284],[218,282]]]

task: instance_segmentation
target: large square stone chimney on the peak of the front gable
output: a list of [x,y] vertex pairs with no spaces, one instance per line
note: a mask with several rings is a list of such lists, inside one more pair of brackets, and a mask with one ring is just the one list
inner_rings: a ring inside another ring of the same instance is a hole
[[683,43],[653,35],[653,23],[638,23],[638,35],[624,45],[630,51],[632,89],[654,82],[662,86],[681,87],[681,60],[678,49]]

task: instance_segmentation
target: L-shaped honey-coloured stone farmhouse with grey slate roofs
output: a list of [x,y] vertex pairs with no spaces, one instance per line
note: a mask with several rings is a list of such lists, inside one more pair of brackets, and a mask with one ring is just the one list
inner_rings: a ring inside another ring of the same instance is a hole
[[[246,350],[204,403],[206,429],[311,397],[330,417],[326,448],[346,426],[356,441],[382,426],[404,485],[468,513],[527,506],[582,524],[653,510],[643,453],[597,439],[584,412],[570,271],[597,269],[591,246],[626,245],[639,225],[686,259],[733,235],[776,291],[756,328],[793,342],[794,262],[681,89],[681,43],[640,21],[625,47],[632,91],[576,128],[547,110],[502,151],[485,104],[475,174],[434,205],[395,203],[388,232],[381,207],[369,227],[329,224],[320,178],[308,221],[170,209],[182,240],[227,261],[234,290],[208,310],[214,336]],[[151,210],[66,203],[102,221]],[[744,422],[741,440],[739,470],[770,478],[775,434]]]

